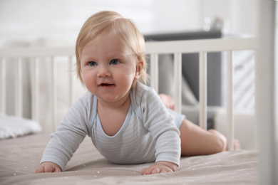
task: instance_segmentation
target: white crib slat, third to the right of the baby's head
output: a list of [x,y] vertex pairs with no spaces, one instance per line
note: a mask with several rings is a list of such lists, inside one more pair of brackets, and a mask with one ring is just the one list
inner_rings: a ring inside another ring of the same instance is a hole
[[207,53],[199,53],[200,127],[207,129]]

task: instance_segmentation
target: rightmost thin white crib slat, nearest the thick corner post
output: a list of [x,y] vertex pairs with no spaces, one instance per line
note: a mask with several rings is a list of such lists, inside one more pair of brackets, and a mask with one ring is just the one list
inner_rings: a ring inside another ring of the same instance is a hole
[[227,145],[228,150],[234,149],[234,106],[233,106],[233,65],[232,51],[227,51]]

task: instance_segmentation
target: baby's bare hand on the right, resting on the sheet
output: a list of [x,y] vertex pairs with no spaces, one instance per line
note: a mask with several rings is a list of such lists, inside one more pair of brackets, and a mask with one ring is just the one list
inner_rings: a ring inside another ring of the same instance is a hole
[[177,164],[172,162],[157,162],[142,170],[143,175],[169,173],[177,170]]

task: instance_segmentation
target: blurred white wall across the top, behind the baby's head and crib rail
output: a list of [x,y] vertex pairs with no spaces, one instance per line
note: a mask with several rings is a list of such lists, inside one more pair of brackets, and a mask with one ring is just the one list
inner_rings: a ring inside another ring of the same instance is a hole
[[143,33],[199,30],[204,18],[219,16],[231,31],[253,34],[256,4],[252,1],[1,0],[0,47],[37,38],[51,38],[50,45],[74,45],[86,18],[101,10],[118,11],[133,19]]

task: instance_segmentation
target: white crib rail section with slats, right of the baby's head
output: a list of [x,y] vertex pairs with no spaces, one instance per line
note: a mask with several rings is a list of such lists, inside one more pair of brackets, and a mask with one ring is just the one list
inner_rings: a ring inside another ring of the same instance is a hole
[[[200,73],[200,127],[207,129],[207,53],[226,51],[227,52],[227,140],[228,149],[232,150],[234,140],[234,119],[233,119],[233,95],[232,95],[232,52],[238,50],[256,50],[257,41],[254,37],[249,38],[227,38],[227,39],[205,39],[197,41],[163,41],[150,42],[146,45],[147,53],[174,53],[174,79],[181,79],[181,53],[199,53]],[[151,58],[153,59],[153,58]],[[151,67],[157,68],[158,64],[151,60]],[[155,63],[155,65],[153,65]],[[151,84],[158,84],[158,78],[152,74]],[[181,112],[181,82],[175,82],[175,110]],[[156,87],[154,87],[157,89]]]

